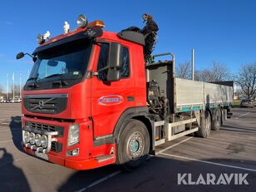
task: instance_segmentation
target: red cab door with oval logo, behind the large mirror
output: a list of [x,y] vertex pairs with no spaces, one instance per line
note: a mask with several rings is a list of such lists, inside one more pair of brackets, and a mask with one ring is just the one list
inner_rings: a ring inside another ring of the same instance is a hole
[[[96,45],[93,71],[99,71],[107,64],[109,43]],[[132,72],[130,48],[122,45],[121,79],[107,81],[105,71],[93,76],[91,81],[91,117],[94,136],[111,135],[122,112],[135,106],[135,81]]]

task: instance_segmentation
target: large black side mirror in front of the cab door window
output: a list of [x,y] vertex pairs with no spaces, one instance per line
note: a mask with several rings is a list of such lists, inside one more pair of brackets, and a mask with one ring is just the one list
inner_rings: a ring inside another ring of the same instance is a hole
[[111,42],[107,62],[107,81],[119,81],[121,79],[122,51],[120,43]]

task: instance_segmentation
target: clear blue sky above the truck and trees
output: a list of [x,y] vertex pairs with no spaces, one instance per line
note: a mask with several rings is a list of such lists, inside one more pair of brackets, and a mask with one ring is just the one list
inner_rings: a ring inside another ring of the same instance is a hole
[[85,14],[89,22],[100,19],[107,31],[120,32],[130,26],[143,27],[143,13],[154,16],[160,28],[155,54],[174,52],[176,63],[189,62],[195,50],[195,68],[222,62],[233,73],[240,64],[256,62],[256,1],[14,1],[0,6],[0,85],[6,87],[12,72],[15,81],[26,81],[32,68],[29,57],[16,61],[17,52],[33,52],[38,33],[51,37],[62,33],[63,22],[71,29],[76,17]]

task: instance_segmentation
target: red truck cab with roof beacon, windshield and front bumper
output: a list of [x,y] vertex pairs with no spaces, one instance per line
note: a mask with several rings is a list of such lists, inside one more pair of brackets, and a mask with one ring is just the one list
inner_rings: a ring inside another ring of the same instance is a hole
[[78,27],[32,53],[22,91],[27,153],[77,170],[116,162],[118,121],[146,106],[144,37],[103,25]]

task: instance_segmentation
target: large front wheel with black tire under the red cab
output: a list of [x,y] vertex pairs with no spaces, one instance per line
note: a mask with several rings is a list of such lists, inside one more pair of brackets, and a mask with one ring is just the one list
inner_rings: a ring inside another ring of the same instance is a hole
[[150,135],[145,124],[126,120],[116,148],[116,164],[126,171],[134,171],[146,160],[150,151]]

